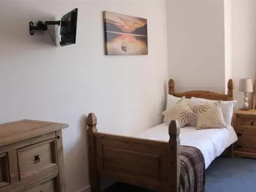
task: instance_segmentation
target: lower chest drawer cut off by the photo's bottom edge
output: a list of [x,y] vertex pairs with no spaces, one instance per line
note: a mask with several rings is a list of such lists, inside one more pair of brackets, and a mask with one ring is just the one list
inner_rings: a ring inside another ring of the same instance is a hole
[[41,182],[33,187],[26,189],[23,192],[55,192],[55,178]]

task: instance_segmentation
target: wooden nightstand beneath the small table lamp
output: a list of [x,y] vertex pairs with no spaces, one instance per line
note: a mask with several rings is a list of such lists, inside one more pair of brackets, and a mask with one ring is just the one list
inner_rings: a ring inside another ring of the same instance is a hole
[[234,157],[256,158],[256,110],[235,110],[234,115],[234,129],[238,135]]

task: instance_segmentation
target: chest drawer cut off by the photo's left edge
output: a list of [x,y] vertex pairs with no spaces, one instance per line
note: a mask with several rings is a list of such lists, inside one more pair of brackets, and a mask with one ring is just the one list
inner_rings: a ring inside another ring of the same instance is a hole
[[7,154],[0,154],[0,188],[9,185],[9,168]]

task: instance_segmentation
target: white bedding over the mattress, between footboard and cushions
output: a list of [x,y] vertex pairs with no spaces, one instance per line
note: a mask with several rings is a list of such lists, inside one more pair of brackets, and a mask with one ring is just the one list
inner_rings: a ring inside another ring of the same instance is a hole
[[[162,123],[136,134],[134,137],[168,141],[168,126],[168,123]],[[232,126],[206,130],[197,130],[194,126],[185,126],[180,129],[180,144],[197,147],[204,156],[205,168],[237,140],[237,134]]]

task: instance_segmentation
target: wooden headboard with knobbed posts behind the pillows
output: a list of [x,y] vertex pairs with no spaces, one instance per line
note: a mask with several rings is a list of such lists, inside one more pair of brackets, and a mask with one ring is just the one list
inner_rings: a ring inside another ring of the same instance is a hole
[[182,96],[185,96],[186,98],[200,97],[200,98],[204,98],[204,99],[222,100],[222,101],[233,100],[233,81],[232,81],[232,79],[229,79],[228,83],[227,83],[227,88],[228,88],[227,95],[214,93],[214,92],[210,92],[210,91],[188,91],[188,92],[183,92],[183,93],[176,93],[174,79],[169,80],[168,87],[169,87],[169,94],[177,96],[177,97],[182,97]]

